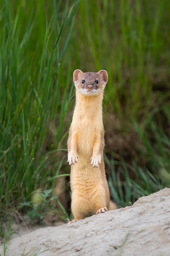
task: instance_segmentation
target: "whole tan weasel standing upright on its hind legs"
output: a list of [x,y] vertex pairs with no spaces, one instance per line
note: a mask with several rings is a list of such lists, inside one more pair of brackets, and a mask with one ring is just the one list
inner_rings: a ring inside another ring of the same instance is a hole
[[83,73],[77,69],[73,73],[73,81],[76,105],[69,130],[68,162],[71,165],[71,211],[74,220],[69,224],[108,209],[117,209],[116,204],[110,203],[103,160],[102,100],[108,81],[107,71]]

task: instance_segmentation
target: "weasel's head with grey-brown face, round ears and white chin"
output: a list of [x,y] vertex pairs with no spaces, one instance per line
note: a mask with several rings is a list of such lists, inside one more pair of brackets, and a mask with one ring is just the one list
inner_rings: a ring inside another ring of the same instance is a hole
[[104,91],[107,84],[108,76],[106,70],[100,70],[98,73],[83,73],[80,69],[76,69],[73,73],[73,82],[76,91],[92,96]]

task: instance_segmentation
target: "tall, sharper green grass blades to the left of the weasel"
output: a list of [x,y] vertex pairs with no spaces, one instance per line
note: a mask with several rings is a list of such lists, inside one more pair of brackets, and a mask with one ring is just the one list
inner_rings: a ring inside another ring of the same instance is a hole
[[[42,25],[41,20],[33,18],[35,8],[21,34],[19,13],[23,6],[18,4],[13,10],[10,3],[4,1],[1,9],[0,209],[3,217],[9,209],[19,207],[20,202],[31,200],[36,189],[48,187],[53,191],[61,163],[66,162],[58,153],[66,151],[61,144],[67,136],[64,123],[73,85],[69,63],[64,72],[63,56],[73,26],[69,22],[74,24],[78,7],[78,1],[65,7],[57,3],[50,20],[44,17]],[[63,14],[58,17],[60,8]],[[22,18],[24,21],[25,17]],[[33,34],[36,22],[44,26],[38,32],[40,35]],[[54,176],[55,179],[50,179]]]

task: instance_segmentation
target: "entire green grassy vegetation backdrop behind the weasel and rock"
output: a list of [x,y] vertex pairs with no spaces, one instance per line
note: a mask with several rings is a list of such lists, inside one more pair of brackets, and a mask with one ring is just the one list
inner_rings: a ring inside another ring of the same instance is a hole
[[0,235],[70,216],[75,69],[106,69],[105,165],[121,207],[170,186],[170,1],[0,0]]

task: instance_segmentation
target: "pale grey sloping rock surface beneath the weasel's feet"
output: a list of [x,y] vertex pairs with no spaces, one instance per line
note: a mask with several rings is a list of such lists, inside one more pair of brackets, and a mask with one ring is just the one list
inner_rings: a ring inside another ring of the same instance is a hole
[[[43,252],[44,251],[44,252]],[[4,255],[1,245],[0,254]],[[40,228],[6,244],[5,256],[169,256],[170,188],[69,226]]]

